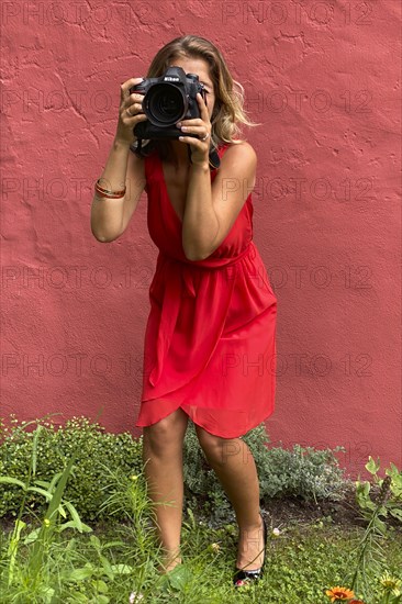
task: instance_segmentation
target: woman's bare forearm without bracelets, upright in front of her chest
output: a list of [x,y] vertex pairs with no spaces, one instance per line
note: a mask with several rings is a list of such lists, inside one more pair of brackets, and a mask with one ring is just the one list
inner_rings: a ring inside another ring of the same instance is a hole
[[212,204],[211,172],[208,165],[190,168],[186,209],[182,221],[182,247],[190,260],[203,260],[210,254],[219,232],[219,220]]

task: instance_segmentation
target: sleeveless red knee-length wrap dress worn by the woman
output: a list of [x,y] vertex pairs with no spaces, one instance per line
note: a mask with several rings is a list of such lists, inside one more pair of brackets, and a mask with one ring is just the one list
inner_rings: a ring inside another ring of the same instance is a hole
[[[220,157],[227,147],[217,149]],[[273,412],[276,388],[277,298],[252,241],[252,195],[215,251],[189,260],[161,160],[154,152],[144,161],[147,225],[159,254],[136,426],[181,407],[211,434],[243,436]]]

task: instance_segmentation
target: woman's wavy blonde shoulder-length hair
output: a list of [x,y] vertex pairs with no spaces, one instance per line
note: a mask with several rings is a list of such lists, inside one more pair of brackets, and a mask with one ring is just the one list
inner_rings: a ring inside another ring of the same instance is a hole
[[[204,37],[185,35],[163,46],[149,66],[147,78],[160,77],[177,58],[200,58],[210,67],[210,78],[215,93],[211,115],[211,142],[214,147],[223,143],[241,143],[242,139],[237,138],[242,135],[239,124],[259,125],[249,120],[244,109],[243,86],[232,78],[221,52]],[[166,152],[165,144],[156,146]]]

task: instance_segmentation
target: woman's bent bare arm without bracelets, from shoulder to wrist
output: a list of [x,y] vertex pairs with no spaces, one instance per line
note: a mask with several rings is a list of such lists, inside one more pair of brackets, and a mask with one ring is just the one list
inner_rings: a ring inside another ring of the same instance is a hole
[[257,156],[246,142],[227,148],[211,186],[208,164],[193,164],[182,223],[189,260],[208,258],[231,231],[256,181]]

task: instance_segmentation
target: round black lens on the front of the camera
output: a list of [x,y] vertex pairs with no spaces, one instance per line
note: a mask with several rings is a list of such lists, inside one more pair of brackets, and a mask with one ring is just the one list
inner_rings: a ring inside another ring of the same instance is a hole
[[187,112],[183,93],[170,83],[156,83],[148,90],[144,101],[144,111],[156,126],[172,126]]

